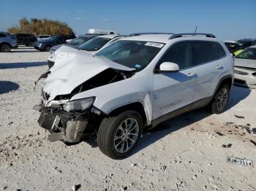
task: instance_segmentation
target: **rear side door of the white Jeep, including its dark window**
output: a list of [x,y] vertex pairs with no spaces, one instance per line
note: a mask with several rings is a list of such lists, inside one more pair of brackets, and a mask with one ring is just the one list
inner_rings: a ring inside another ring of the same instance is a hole
[[225,50],[218,42],[192,41],[192,69],[196,74],[195,100],[210,98],[214,94],[225,66]]

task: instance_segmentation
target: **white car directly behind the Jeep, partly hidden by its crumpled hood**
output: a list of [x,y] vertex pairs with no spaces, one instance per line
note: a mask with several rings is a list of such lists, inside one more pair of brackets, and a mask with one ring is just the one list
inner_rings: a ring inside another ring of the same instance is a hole
[[[88,41],[84,42],[83,44],[80,44],[78,47],[76,47],[78,50],[84,50],[85,52],[90,52],[91,54],[94,54],[98,52],[99,50],[102,50],[104,47],[107,47],[109,44],[112,42],[115,42],[117,39],[124,38],[126,36],[124,35],[115,35],[115,34],[109,34],[109,35],[102,35],[102,36],[96,36],[95,38],[89,39]],[[63,54],[65,52],[71,51],[72,47],[70,48],[59,48],[55,52],[55,54],[51,57],[49,56],[48,58],[48,66],[51,68],[55,61],[56,57],[59,54]]]

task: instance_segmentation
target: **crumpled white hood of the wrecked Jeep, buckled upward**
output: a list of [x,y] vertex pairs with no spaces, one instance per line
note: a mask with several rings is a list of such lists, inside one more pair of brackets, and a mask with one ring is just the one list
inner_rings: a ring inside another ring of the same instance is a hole
[[56,95],[67,95],[86,82],[91,77],[106,69],[116,69],[119,71],[133,71],[127,66],[95,57],[83,50],[71,47],[61,47],[54,66],[50,69],[50,74],[45,80],[43,91],[53,100]]

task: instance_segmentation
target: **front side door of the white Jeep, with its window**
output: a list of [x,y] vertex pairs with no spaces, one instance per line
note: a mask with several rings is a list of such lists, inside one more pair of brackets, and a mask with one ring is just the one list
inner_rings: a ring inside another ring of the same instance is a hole
[[[192,73],[192,46],[190,42],[178,42],[165,52],[159,65],[164,62],[176,63],[179,71],[157,72],[153,76],[153,120],[169,118],[176,112],[191,109],[195,95],[197,75]],[[159,69],[159,65],[157,69]],[[173,113],[172,113],[173,112]]]

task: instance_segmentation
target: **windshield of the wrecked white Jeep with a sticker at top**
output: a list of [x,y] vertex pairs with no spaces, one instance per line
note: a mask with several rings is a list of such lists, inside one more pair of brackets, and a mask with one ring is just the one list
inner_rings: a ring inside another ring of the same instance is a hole
[[165,44],[120,40],[97,52],[97,56],[138,71],[148,66]]

